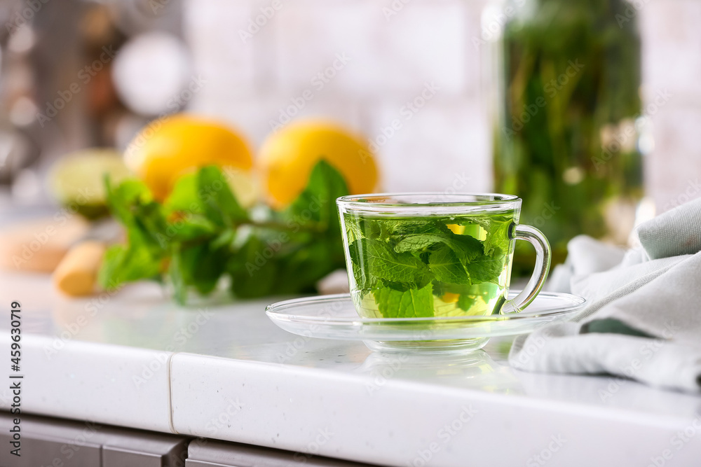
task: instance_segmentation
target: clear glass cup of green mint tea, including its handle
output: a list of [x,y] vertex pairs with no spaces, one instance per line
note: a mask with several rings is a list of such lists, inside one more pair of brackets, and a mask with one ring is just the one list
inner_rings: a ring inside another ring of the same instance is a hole
[[[484,316],[517,313],[543,287],[550,245],[519,225],[513,195],[382,193],[343,196],[348,282],[365,318]],[[536,249],[524,290],[507,300],[515,240]]]

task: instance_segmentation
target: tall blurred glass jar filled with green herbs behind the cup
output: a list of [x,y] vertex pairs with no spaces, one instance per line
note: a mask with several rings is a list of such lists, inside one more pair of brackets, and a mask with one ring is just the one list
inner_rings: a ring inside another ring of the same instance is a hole
[[[634,226],[645,121],[636,13],[625,0],[508,0],[483,15],[496,59],[495,190],[522,197],[522,221],[550,239],[554,263],[578,234],[625,244]],[[515,272],[532,255],[517,250]]]

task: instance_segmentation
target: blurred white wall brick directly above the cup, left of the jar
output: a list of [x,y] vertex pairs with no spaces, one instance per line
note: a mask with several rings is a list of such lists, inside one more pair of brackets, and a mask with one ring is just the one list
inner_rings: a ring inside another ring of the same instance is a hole
[[[379,147],[386,190],[491,190],[489,133],[482,109],[475,99],[441,92],[423,108],[415,106],[416,113],[407,106],[414,95],[369,109],[365,134]],[[457,186],[463,177],[468,181]]]

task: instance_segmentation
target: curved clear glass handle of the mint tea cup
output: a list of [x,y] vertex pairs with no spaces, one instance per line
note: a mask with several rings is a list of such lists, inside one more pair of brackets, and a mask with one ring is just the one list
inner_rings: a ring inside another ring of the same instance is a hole
[[536,267],[526,287],[513,300],[508,300],[504,304],[501,314],[520,313],[525,307],[531,305],[543,288],[547,272],[550,270],[550,243],[547,242],[543,232],[531,225],[515,225],[511,237],[516,240],[526,240],[533,245],[536,249]]

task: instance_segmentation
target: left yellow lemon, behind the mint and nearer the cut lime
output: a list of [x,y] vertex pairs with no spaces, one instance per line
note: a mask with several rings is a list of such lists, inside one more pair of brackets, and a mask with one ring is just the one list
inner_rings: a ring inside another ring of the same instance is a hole
[[133,139],[124,158],[159,201],[168,197],[179,177],[205,165],[224,169],[244,206],[257,198],[248,144],[217,120],[184,113],[154,120]]

